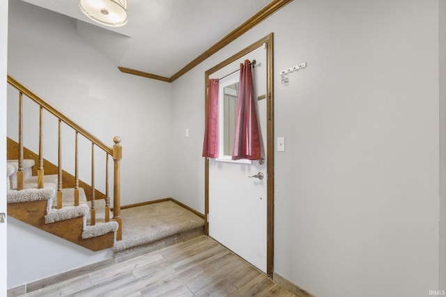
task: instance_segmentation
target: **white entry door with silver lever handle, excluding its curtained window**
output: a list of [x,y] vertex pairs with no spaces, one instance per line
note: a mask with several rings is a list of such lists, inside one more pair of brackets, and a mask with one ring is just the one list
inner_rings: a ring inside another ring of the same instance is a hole
[[[210,78],[220,78],[239,68],[245,59],[256,60],[252,69],[255,98],[266,95],[266,49],[259,47]],[[259,161],[238,163],[209,161],[209,236],[266,272],[267,263],[267,100],[255,99],[261,133]],[[249,177],[263,175],[263,179]]]

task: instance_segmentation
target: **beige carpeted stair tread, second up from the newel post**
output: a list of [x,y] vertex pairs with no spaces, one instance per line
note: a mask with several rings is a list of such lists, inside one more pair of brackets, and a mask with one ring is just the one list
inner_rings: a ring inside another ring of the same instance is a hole
[[89,205],[83,188],[79,188],[79,206],[75,206],[75,189],[64,188],[62,190],[62,208],[57,209],[57,199],[54,198],[52,209],[45,215],[45,223],[54,223],[60,220],[68,220],[89,214]]

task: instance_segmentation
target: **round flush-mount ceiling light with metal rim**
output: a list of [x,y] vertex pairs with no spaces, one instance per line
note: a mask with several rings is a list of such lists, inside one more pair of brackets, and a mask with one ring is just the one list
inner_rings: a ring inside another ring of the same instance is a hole
[[119,27],[127,23],[127,0],[79,0],[82,13],[104,26]]

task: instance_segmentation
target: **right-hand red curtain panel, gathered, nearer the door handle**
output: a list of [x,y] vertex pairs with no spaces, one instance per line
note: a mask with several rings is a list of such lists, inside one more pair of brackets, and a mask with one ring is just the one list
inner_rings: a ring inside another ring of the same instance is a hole
[[237,99],[236,137],[232,159],[259,160],[260,134],[257,123],[254,86],[249,60],[240,63],[240,87]]

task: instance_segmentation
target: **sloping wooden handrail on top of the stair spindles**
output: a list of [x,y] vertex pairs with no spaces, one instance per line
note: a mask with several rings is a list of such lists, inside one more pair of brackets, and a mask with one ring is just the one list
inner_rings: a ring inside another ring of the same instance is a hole
[[36,102],[40,106],[42,106],[45,110],[47,110],[49,113],[52,113],[52,115],[56,116],[56,118],[59,118],[62,122],[66,123],[66,125],[72,127],[72,129],[75,129],[75,131],[79,131],[82,136],[87,138],[89,141],[94,143],[95,145],[98,145],[102,150],[107,152],[110,155],[113,155],[113,149],[112,147],[108,147],[105,145],[105,143],[102,143],[98,138],[93,136],[89,131],[86,131],[86,129],[80,127],[77,125],[73,120],[68,118],[66,115],[63,115],[61,111],[55,109],[53,106],[51,106],[48,102],[46,102],[44,99],[42,99],[40,96],[36,95],[36,93],[33,93],[33,91],[29,90],[29,88],[26,88],[26,86],[22,85],[20,81],[17,81],[14,77],[11,77],[8,74],[8,83],[10,83],[11,86],[16,88],[17,90],[20,90],[26,97],[29,97],[29,99],[33,100],[33,102]]

